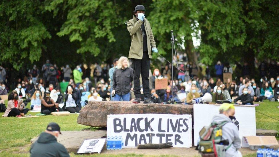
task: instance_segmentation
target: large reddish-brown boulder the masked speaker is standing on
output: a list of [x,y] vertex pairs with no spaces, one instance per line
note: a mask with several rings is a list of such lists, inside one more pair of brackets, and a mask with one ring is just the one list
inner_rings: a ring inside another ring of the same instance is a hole
[[79,111],[78,124],[107,126],[109,114],[191,114],[193,105],[133,104],[128,101],[90,101]]

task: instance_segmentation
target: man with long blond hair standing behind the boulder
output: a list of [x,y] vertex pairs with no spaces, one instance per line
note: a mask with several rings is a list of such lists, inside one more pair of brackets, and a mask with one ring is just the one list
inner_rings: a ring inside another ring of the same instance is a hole
[[133,81],[133,69],[129,67],[129,59],[120,57],[117,69],[113,73],[113,90],[111,94],[115,94],[114,101],[130,101],[130,90]]

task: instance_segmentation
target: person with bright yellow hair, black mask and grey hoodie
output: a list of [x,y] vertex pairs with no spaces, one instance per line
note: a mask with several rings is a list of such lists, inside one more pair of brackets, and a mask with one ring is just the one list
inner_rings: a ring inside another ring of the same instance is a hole
[[234,105],[228,103],[222,104],[219,108],[219,113],[220,114],[215,115],[212,118],[212,123],[221,124],[226,122],[222,126],[222,139],[228,140],[229,142],[228,146],[225,146],[226,156],[242,156],[238,151],[241,147],[241,139],[239,138],[238,128],[233,123],[236,121],[236,118],[234,117]]

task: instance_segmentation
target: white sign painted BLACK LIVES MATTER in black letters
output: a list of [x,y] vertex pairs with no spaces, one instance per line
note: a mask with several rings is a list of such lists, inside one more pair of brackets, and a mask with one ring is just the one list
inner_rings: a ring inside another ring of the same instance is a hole
[[192,115],[107,115],[107,137],[122,136],[124,148],[171,142],[176,148],[192,147]]

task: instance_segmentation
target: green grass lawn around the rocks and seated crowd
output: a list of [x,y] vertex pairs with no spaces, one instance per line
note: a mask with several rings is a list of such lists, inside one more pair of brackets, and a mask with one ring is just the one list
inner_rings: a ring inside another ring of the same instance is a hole
[[[7,101],[6,101],[7,106]],[[278,102],[264,101],[260,103],[260,106],[256,106],[256,111],[262,112],[268,116],[279,119],[279,106]],[[30,108],[30,103],[27,105]],[[37,113],[28,112],[27,114],[35,115]],[[3,113],[0,113],[2,116]],[[95,128],[89,128],[88,126],[77,124],[77,114],[71,114],[70,116],[41,116],[38,118],[3,118],[0,117],[0,156],[29,156],[28,151],[30,149],[30,140],[45,130],[49,122],[56,122],[60,125],[61,130],[83,130]],[[256,112],[256,125],[257,129],[266,130],[279,130],[279,122],[268,118],[262,114]],[[76,156],[71,154],[71,156]],[[91,156],[107,156],[102,154],[95,154]],[[136,154],[119,154],[110,156],[144,156]],[[169,156],[169,155],[166,155]],[[255,156],[255,154],[248,155]],[[246,156],[246,157],[248,157]]]

